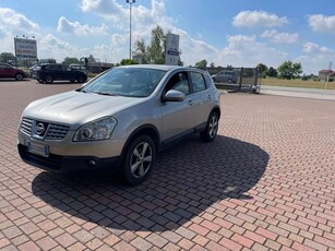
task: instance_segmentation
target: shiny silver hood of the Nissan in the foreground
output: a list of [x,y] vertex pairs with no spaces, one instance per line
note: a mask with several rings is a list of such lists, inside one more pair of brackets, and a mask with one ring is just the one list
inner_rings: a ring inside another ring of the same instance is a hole
[[75,130],[92,120],[113,116],[121,110],[136,106],[144,99],[143,97],[105,96],[72,91],[31,103],[24,110],[23,117],[57,121]]

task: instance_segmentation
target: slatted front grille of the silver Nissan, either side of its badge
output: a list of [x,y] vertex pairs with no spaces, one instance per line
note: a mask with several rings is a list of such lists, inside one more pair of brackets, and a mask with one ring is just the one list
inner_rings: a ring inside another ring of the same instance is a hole
[[[37,135],[36,130],[34,129],[37,123],[41,122],[29,118],[23,118],[21,122],[21,131],[32,136]],[[70,130],[70,127],[63,124],[43,123],[46,124],[46,133],[44,135],[45,140],[63,140]]]

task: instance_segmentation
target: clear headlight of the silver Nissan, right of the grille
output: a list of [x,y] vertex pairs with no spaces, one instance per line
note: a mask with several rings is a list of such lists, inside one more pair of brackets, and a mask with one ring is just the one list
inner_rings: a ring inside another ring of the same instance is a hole
[[74,134],[73,141],[103,141],[108,140],[117,125],[112,117],[94,120],[81,127]]

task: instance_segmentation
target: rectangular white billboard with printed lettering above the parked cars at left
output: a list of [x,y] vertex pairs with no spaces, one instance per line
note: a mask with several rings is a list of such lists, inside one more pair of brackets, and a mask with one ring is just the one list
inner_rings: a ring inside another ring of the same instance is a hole
[[15,56],[21,59],[36,59],[37,45],[35,39],[14,38]]

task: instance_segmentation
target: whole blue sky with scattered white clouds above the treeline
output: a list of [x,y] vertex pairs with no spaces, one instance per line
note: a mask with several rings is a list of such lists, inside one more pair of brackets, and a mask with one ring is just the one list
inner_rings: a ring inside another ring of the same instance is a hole
[[[159,25],[180,35],[181,60],[277,68],[301,62],[306,74],[335,63],[334,0],[136,0],[132,40],[147,44]],[[1,0],[0,52],[13,38],[37,40],[38,58],[87,57],[120,62],[129,57],[125,0]],[[335,64],[334,64],[335,65]]]

